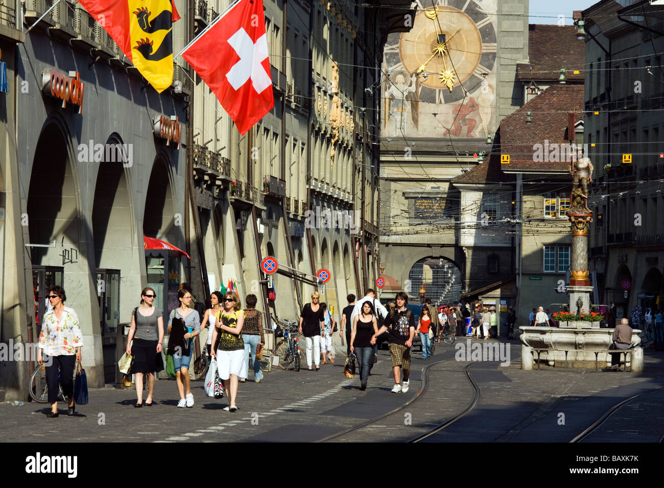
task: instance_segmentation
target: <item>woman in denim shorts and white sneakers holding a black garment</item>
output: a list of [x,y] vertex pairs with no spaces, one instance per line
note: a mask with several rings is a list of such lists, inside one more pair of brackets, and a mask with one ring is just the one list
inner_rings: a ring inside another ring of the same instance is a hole
[[[180,306],[171,311],[168,317],[168,333],[171,333],[173,318],[182,319],[187,327],[185,341],[189,341],[189,354],[183,355],[183,351],[176,351],[173,355],[173,366],[175,368],[175,382],[177,383],[177,392],[180,394],[180,401],[177,402],[179,408],[194,406],[194,396],[191,394],[191,379],[189,378],[189,364],[191,363],[191,353],[193,351],[193,338],[201,333],[201,319],[199,313],[189,308],[191,304],[191,292],[181,289],[177,292],[177,299]],[[185,397],[185,390],[187,396]]]

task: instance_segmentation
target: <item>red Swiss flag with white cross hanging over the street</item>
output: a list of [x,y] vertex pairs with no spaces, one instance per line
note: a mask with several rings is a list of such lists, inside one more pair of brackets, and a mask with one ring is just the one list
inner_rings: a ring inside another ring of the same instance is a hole
[[240,0],[182,56],[244,135],[274,107],[262,0]]

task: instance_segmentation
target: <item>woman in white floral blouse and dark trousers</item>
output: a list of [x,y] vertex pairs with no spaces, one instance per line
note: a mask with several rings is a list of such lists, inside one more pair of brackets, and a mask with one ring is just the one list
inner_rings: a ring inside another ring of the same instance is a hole
[[46,384],[48,384],[49,418],[58,414],[58,368],[60,385],[67,396],[68,415],[74,415],[74,366],[81,360],[83,336],[78,326],[78,316],[73,309],[64,306],[67,297],[64,288],[54,286],[48,290],[52,309],[44,315],[39,334],[37,363],[46,364]]

